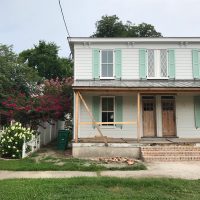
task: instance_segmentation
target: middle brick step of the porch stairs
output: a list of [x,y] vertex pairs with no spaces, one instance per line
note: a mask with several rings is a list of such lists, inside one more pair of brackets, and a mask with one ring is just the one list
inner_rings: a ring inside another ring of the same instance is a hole
[[142,151],[143,156],[200,156],[200,151]]

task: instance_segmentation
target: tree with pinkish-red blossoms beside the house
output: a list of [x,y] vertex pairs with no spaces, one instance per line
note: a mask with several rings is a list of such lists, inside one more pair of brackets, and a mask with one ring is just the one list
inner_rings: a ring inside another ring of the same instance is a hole
[[40,121],[61,120],[72,113],[73,79],[45,80],[36,95],[10,95],[1,102],[0,113],[22,124],[40,124]]

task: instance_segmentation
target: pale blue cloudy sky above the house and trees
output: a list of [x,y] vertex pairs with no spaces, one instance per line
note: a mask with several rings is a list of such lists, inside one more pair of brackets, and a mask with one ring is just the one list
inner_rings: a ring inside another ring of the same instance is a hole
[[[61,0],[70,35],[87,37],[102,15],[150,23],[163,36],[200,36],[200,0]],[[68,56],[58,0],[0,0],[0,43],[19,53],[39,40],[55,42]]]

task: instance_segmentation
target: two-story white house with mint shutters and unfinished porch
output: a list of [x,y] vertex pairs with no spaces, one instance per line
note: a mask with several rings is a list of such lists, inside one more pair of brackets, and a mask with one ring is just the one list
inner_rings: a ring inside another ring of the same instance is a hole
[[69,41],[74,57],[74,147],[200,142],[200,38]]

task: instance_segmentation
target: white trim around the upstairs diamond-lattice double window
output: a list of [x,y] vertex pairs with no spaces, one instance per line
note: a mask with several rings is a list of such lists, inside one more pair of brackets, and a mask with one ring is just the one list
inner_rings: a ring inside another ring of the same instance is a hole
[[[150,79],[150,80],[152,80],[152,79],[168,80],[169,79],[169,75],[168,75],[168,50],[167,49],[152,49],[154,51],[155,50],[159,50],[159,52],[160,52],[160,50],[166,50],[167,51],[167,76],[166,77],[161,77],[160,76],[160,71],[161,71],[161,69],[160,69],[160,56],[159,56],[159,59],[156,58],[157,55],[158,55],[158,53],[156,53],[156,57],[155,57],[155,54],[154,54],[154,61],[156,61],[156,62],[154,62],[154,64],[157,66],[155,68],[155,74],[156,74],[156,76],[155,77],[149,77],[149,66],[148,66],[149,56],[148,56],[148,50],[150,50],[150,49],[147,49],[147,59],[146,59],[147,79]],[[159,65],[158,65],[158,63],[159,63]]]

